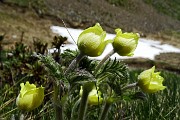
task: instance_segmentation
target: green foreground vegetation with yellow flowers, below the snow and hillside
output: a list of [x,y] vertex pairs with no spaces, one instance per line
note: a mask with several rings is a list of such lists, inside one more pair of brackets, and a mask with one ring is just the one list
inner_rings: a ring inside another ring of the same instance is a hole
[[[23,39],[4,50],[0,37],[0,119],[11,120],[159,120],[178,119],[180,76],[167,71],[130,69],[114,53],[132,56],[138,33],[122,33],[105,39],[101,25],[85,29],[77,51],[61,47],[66,37],[55,36],[48,45]],[[23,36],[22,36],[23,37]],[[101,60],[107,44],[114,49]]]

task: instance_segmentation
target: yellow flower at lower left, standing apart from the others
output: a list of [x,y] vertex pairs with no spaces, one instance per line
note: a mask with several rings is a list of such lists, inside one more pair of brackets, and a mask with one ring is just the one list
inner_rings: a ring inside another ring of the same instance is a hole
[[20,84],[21,91],[16,99],[16,105],[21,110],[31,111],[41,105],[44,99],[44,87],[36,88],[28,81]]

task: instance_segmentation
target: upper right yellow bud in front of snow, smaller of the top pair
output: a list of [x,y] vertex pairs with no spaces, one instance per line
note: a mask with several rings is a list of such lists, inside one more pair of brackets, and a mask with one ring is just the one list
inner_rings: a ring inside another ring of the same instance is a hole
[[137,47],[138,33],[122,33],[121,29],[116,29],[116,37],[114,38],[113,48],[121,56],[132,56]]

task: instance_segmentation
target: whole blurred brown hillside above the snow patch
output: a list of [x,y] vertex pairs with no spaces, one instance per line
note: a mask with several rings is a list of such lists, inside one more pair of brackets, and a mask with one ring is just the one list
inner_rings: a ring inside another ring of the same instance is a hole
[[[24,31],[48,41],[51,25],[87,28],[99,22],[110,33],[139,32],[180,47],[179,0],[1,0],[0,33],[16,38]],[[41,34],[42,33],[42,34]],[[26,35],[27,34],[27,35]],[[13,37],[14,35],[14,37]],[[27,38],[32,39],[32,38]]]

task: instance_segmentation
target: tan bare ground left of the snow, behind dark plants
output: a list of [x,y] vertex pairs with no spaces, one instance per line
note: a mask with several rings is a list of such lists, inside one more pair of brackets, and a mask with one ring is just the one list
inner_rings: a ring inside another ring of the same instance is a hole
[[32,45],[35,39],[50,42],[54,36],[51,25],[51,20],[42,19],[32,10],[0,3],[0,35],[4,35],[5,49],[20,41],[22,34],[26,45]]

